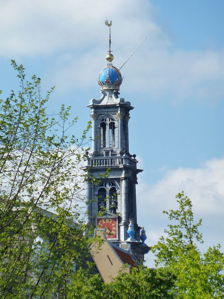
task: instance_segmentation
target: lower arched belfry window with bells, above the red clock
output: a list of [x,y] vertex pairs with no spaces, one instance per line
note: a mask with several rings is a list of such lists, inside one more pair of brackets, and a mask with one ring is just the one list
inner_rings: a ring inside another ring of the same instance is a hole
[[98,212],[106,209],[111,213],[117,213],[117,189],[112,182],[104,182],[98,189]]

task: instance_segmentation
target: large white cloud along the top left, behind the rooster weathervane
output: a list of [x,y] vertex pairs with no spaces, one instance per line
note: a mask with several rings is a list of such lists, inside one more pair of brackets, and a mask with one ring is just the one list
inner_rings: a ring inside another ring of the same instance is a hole
[[[113,5],[103,0],[6,1],[1,4],[0,53],[7,57],[14,53],[49,54],[67,48],[91,51],[91,44],[108,44],[107,39],[102,38],[102,33],[106,32],[104,21],[107,16],[113,19],[113,32],[116,32],[118,42],[125,43],[130,31],[138,32],[144,27],[159,39],[158,26],[145,21],[152,14],[151,5],[145,0],[142,2],[145,12],[136,1],[128,0],[115,0]],[[142,19],[134,17],[137,12],[141,12]]]

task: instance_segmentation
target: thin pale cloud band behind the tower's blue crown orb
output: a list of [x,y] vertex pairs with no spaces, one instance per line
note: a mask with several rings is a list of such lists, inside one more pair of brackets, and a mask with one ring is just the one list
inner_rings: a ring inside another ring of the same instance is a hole
[[[141,40],[140,40],[141,41]],[[140,42],[138,41],[138,42]],[[189,100],[216,104],[224,99],[224,52],[173,51],[166,48],[148,51],[148,45],[131,57],[124,68],[121,94],[130,92],[141,100],[172,100],[174,103]],[[120,67],[134,50],[119,49],[115,65]],[[139,48],[140,49],[140,48]],[[65,64],[55,64],[52,81],[64,88],[92,88],[95,78],[106,64],[105,47],[94,48]],[[115,54],[114,54],[115,55]],[[115,56],[116,57],[116,56]],[[147,58],[146,58],[147,57]],[[88,74],[88,77],[83,77]]]

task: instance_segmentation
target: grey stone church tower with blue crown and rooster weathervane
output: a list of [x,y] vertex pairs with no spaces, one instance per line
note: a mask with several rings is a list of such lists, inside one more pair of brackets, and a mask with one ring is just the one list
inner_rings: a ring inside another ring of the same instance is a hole
[[[111,26],[107,21],[105,24]],[[105,228],[111,242],[131,251],[140,261],[150,248],[144,243],[144,228],[140,239],[141,227],[137,222],[136,184],[142,170],[137,168],[136,155],[129,153],[128,122],[134,107],[119,97],[123,78],[112,65],[111,30],[109,42],[108,63],[97,80],[102,96],[90,100],[87,106],[91,109],[93,141],[83,169],[97,182],[88,182],[89,220],[94,226]]]

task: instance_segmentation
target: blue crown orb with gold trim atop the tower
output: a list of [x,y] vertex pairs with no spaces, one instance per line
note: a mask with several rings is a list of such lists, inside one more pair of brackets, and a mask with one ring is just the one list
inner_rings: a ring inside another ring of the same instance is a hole
[[100,89],[117,89],[122,83],[122,77],[119,69],[115,66],[108,65],[103,68],[98,76],[97,82],[99,83]]

